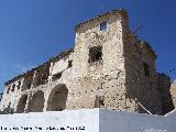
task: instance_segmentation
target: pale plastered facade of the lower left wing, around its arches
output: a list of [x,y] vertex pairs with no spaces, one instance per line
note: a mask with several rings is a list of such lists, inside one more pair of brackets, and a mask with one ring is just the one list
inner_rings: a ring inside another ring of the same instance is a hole
[[[58,86],[59,89],[59,85],[64,84],[66,86],[66,88],[69,89],[70,85],[72,85],[72,67],[68,67],[68,61],[72,61],[72,55],[67,56],[67,59],[63,58],[63,59],[58,59],[56,62],[52,62],[50,64],[50,74],[47,75],[47,81],[41,81],[43,84],[37,84],[36,81],[40,81],[41,79],[46,79],[46,78],[36,78],[36,72],[38,72],[38,75],[41,75],[40,70],[34,70],[34,74],[32,74],[32,80],[30,81],[31,84],[29,85],[29,77],[31,77],[31,72],[26,73],[23,77],[16,79],[13,82],[10,82],[9,85],[6,86],[4,88],[4,94],[2,97],[2,101],[1,101],[1,110],[3,110],[4,108],[13,108],[15,112],[22,112],[22,111],[18,111],[18,108],[20,106],[22,106],[22,98],[24,96],[28,97],[28,100],[25,100],[24,106],[24,110],[23,112],[30,112],[31,109],[34,109],[35,107],[37,107],[37,105],[40,106],[41,103],[43,103],[43,108],[40,111],[46,111],[47,108],[47,100],[48,97],[51,95],[52,89],[54,89],[55,87]],[[55,70],[55,67],[57,63],[63,63],[63,65],[67,64],[67,67],[58,67],[57,72]],[[44,67],[43,67],[44,68]],[[62,72],[62,76],[59,78],[56,78],[56,80],[53,80],[53,77],[55,74]],[[43,70],[42,70],[43,73]],[[38,76],[37,76],[38,77]],[[18,87],[19,81],[21,82],[20,87]],[[14,87],[14,91],[12,91],[12,86],[15,84]],[[35,84],[35,85],[34,85]],[[37,84],[37,85],[36,85]],[[29,85],[29,86],[28,86]],[[43,97],[43,101],[41,102],[41,95],[37,95],[38,91],[42,91],[42,94],[44,95]],[[72,89],[69,89],[69,91],[72,91]],[[34,97],[36,96],[36,98],[34,99]],[[68,98],[70,94],[68,95]],[[40,100],[38,100],[40,99]],[[21,101],[20,101],[21,100]],[[36,103],[35,103],[36,101]],[[37,102],[40,101],[40,102]],[[32,111],[35,111],[32,110]],[[37,110],[36,110],[37,111]]]

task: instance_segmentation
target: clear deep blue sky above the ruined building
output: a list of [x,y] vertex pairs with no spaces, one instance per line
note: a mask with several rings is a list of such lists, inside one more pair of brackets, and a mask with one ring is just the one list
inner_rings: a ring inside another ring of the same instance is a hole
[[[156,68],[176,68],[175,0],[0,0],[0,91],[3,82],[74,47],[75,25],[125,9],[130,28],[157,52]],[[176,72],[169,73],[176,79]]]

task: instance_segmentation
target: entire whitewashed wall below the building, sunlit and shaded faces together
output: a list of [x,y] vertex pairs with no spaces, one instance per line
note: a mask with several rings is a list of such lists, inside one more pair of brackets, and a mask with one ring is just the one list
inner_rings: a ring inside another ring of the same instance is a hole
[[92,109],[1,114],[0,132],[176,132],[176,112],[161,117]]

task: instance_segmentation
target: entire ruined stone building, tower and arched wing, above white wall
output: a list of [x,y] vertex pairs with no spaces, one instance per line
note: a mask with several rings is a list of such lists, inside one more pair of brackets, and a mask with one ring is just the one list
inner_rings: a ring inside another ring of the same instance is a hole
[[155,52],[134,36],[128,21],[124,10],[113,10],[78,24],[73,50],[6,82],[1,110],[106,108],[164,114],[174,109],[165,110],[163,98],[169,96],[158,90],[169,91],[169,78],[156,74]]

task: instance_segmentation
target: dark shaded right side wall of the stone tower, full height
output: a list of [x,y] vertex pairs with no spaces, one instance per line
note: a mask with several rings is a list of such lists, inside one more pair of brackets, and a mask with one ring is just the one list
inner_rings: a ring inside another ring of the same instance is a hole
[[[162,114],[160,94],[157,85],[154,84],[156,55],[146,42],[134,36],[128,26],[128,21],[123,22],[122,29],[127,109],[138,112],[148,110],[152,113]],[[144,64],[147,65],[147,73]]]

